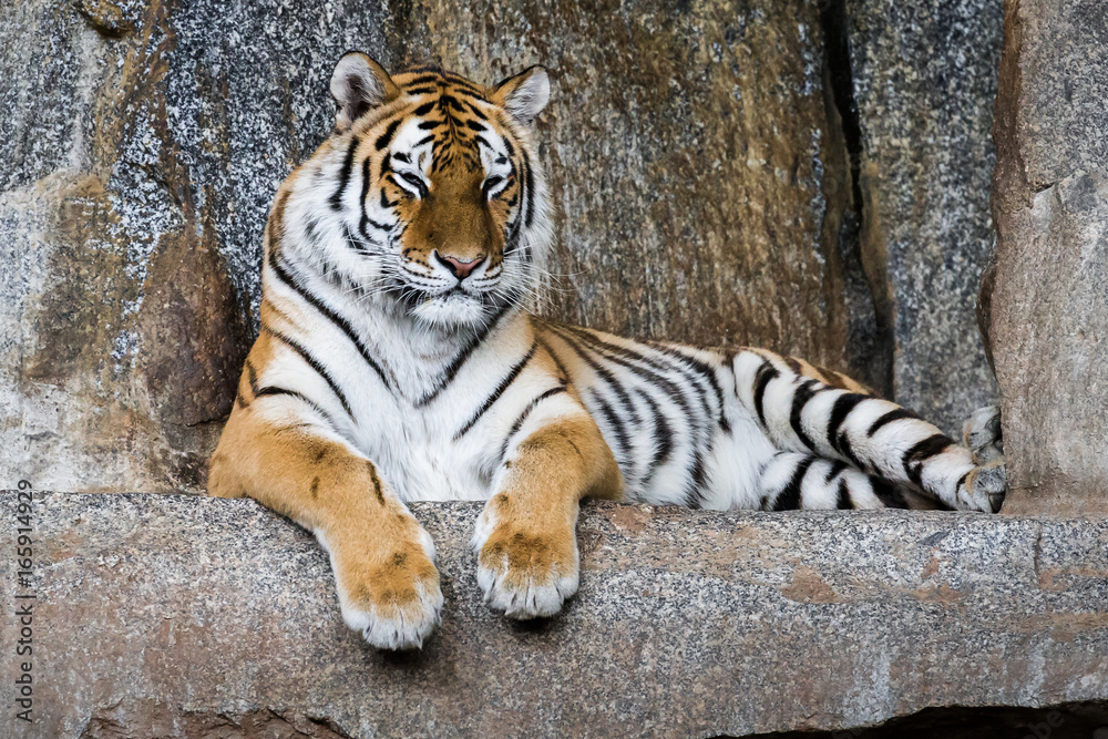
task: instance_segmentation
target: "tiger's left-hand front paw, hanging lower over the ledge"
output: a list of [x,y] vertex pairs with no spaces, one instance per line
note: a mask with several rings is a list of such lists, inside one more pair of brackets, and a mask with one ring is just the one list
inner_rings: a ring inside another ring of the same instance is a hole
[[331,555],[347,626],[379,649],[422,648],[442,612],[430,534],[417,525],[413,535],[392,541],[320,541]]

